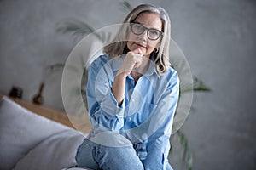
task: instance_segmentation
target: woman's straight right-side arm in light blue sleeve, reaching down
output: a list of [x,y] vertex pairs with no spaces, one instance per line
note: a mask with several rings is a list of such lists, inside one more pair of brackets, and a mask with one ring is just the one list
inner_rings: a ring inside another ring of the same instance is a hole
[[155,118],[148,126],[150,129],[155,129],[154,126],[158,124],[159,127],[148,137],[148,155],[143,161],[145,169],[154,167],[154,169],[164,170],[166,166],[169,166],[169,139],[172,133],[172,122],[177,107],[178,95],[179,80],[175,71],[155,110],[159,113],[159,118]]

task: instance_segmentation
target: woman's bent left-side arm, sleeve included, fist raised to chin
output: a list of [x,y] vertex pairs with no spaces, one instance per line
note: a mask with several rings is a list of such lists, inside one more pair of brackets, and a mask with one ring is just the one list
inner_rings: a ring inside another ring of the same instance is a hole
[[142,59],[140,50],[137,50],[137,53],[127,53],[116,76],[113,75],[113,69],[108,65],[109,59],[106,56],[100,56],[90,65],[87,103],[94,128],[119,131],[123,127],[125,80],[132,69],[141,64]]

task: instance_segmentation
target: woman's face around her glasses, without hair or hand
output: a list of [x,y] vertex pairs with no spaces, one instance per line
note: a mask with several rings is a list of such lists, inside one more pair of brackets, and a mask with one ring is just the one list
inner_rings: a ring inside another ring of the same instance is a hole
[[[146,28],[153,28],[157,31],[162,30],[162,21],[158,14],[142,13],[137,16],[134,23],[142,24]],[[153,31],[153,34],[155,32]],[[136,35],[132,31],[128,34],[127,48],[130,51],[134,51],[140,48],[143,56],[149,58],[150,54],[154,51],[154,48],[160,46],[161,36],[157,40],[148,39],[148,30],[145,29],[142,34]]]

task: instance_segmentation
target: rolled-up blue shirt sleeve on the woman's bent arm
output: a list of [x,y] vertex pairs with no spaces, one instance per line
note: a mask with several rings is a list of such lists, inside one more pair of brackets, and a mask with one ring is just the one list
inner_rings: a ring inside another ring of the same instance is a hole
[[119,131],[124,125],[124,105],[119,106],[111,90],[113,71],[106,57],[96,59],[89,68],[87,104],[92,126],[98,129]]

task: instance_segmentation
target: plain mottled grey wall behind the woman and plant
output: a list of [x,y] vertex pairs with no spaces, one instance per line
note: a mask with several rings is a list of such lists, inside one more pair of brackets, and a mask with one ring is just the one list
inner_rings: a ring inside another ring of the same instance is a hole
[[[31,101],[44,81],[44,105],[62,110],[61,69],[50,73],[45,67],[64,63],[78,39],[57,33],[57,24],[72,18],[95,28],[120,23],[126,12],[119,2],[1,0],[0,92],[19,86],[23,99]],[[212,88],[212,93],[194,95],[182,128],[195,155],[194,169],[255,169],[255,1],[147,2],[166,8],[172,38],[192,74]],[[179,156],[171,162],[177,170],[184,168]]]

